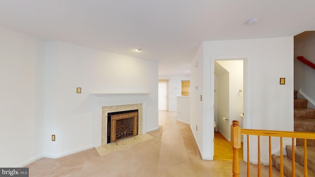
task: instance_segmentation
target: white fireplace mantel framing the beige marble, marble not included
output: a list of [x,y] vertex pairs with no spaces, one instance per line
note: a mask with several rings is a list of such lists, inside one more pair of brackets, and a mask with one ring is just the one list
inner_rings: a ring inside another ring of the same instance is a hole
[[102,107],[142,103],[142,133],[146,133],[147,99],[150,93],[92,93],[95,95],[94,144],[101,146]]

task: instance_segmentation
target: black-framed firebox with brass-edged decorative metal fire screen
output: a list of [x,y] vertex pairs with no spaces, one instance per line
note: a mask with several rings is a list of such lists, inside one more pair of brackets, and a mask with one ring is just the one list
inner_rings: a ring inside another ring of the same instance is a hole
[[107,114],[107,143],[138,135],[138,110]]

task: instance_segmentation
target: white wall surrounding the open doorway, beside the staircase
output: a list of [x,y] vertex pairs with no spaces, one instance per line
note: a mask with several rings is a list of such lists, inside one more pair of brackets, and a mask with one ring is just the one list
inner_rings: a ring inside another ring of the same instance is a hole
[[[244,59],[244,128],[293,131],[293,37],[226,40],[203,42],[203,62],[198,68],[194,62],[200,60],[200,51],[192,60],[191,81],[200,81],[204,91],[202,106],[199,94],[190,96],[191,115],[197,115],[194,123],[203,124],[203,135],[195,133],[197,144],[201,148],[203,159],[213,159],[213,97],[214,60]],[[280,85],[280,78],[286,78],[285,85]],[[197,106],[203,107],[202,115]],[[289,111],[291,110],[291,111]],[[211,130],[211,131],[210,131]],[[266,143],[263,139],[261,144]],[[251,139],[251,148],[255,148]],[[268,149],[262,148],[262,162],[268,162]],[[251,161],[257,161],[256,150],[251,151]]]

